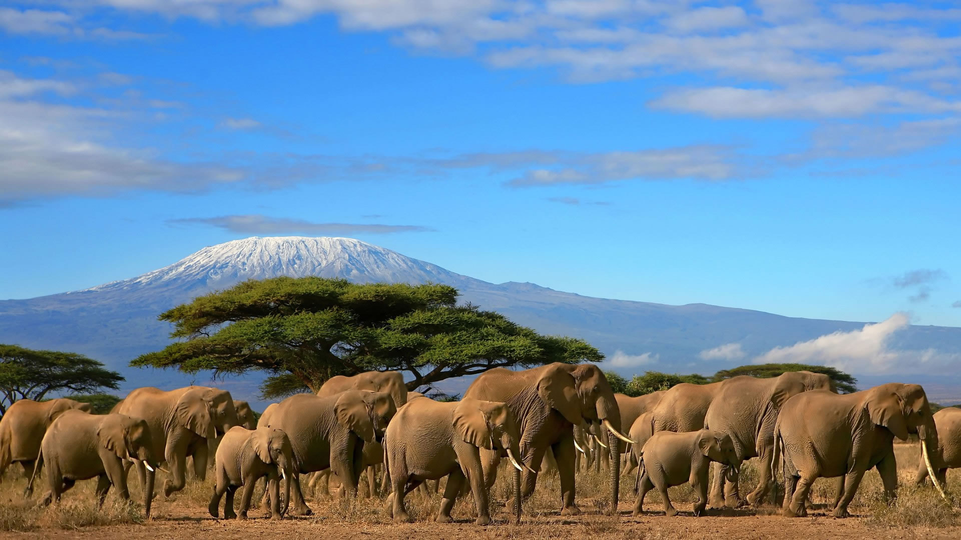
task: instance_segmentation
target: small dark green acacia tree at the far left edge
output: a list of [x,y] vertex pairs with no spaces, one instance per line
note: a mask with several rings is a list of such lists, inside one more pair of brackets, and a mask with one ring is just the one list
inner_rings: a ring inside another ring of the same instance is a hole
[[116,390],[122,380],[119,373],[83,355],[0,344],[0,414],[18,400],[39,402],[64,390],[83,394]]

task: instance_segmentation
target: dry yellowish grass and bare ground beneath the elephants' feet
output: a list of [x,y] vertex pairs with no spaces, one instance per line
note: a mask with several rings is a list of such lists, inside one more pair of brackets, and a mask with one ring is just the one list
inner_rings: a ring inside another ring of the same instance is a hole
[[[827,517],[830,509],[827,508],[833,502],[835,496],[834,479],[819,479],[815,482],[811,490],[812,502],[815,509],[811,511],[812,518],[808,520],[786,520],[771,516],[776,514],[776,506],[767,505],[762,508],[740,508],[737,510],[722,510],[714,512],[715,518],[693,518],[682,517],[668,519],[661,517],[660,510],[662,505],[656,492],[651,492],[645,504],[648,513],[643,518],[631,520],[629,518],[629,508],[634,502],[633,484],[634,475],[625,475],[621,479],[621,516],[611,518],[602,515],[606,510],[606,474],[581,471],[577,483],[577,503],[582,512],[577,517],[561,517],[558,514],[560,508],[560,485],[556,474],[546,472],[538,479],[537,489],[534,494],[524,504],[523,522],[521,526],[500,527],[477,529],[483,530],[479,538],[496,538],[498,540],[509,540],[514,538],[579,538],[579,537],[604,537],[604,538],[684,538],[692,540],[701,537],[715,536],[709,531],[690,529],[690,526],[683,526],[683,530],[678,530],[678,526],[652,527],[652,523],[664,524],[684,524],[706,523],[704,520],[716,519],[717,523],[722,524],[723,528],[738,528],[739,524],[756,524],[744,520],[775,520],[770,526],[773,530],[783,527],[798,527],[804,523],[827,527],[834,530],[839,527],[850,528],[851,524],[864,530],[874,528],[892,528],[899,531],[915,531],[910,534],[929,535],[931,530],[945,530],[944,533],[949,537],[961,534],[961,514],[957,508],[961,503],[961,497],[956,497],[954,504],[944,503],[940,500],[933,487],[913,485],[915,467],[918,463],[919,448],[917,445],[897,445],[896,452],[899,461],[899,499],[895,503],[883,501],[881,481],[875,471],[869,471],[858,490],[857,496],[850,504],[850,512],[855,517],[850,520],[835,521]],[[39,494],[45,489],[37,487],[37,495],[33,500],[24,500],[22,491],[26,480],[22,475],[8,471],[4,482],[0,484],[0,531],[44,531],[44,530],[74,530],[82,528],[88,529],[93,526],[128,526],[139,527],[143,523],[142,505],[139,503],[140,486],[136,475],[131,479],[131,495],[135,502],[124,503],[109,496],[104,508],[98,510],[94,503],[93,489],[94,480],[78,482],[77,486],[65,493],[60,505],[51,505],[49,508],[37,507]],[[186,488],[173,495],[169,500],[164,500],[162,494],[157,497],[154,503],[155,519],[148,522],[149,527],[159,527],[160,524],[180,524],[176,527],[186,527],[186,523],[194,525],[201,523],[216,523],[206,517],[207,504],[213,490],[212,475],[208,475],[205,481],[192,479],[187,482]],[[158,473],[157,490],[162,490],[163,480],[166,475]],[[509,511],[505,508],[505,501],[510,497],[511,487],[509,481],[511,475],[506,469],[502,469],[498,475],[497,482],[492,490],[491,497],[491,517],[495,523],[500,525],[511,524],[513,520]],[[757,474],[753,462],[745,464],[742,468],[741,494],[749,493],[756,483]],[[949,472],[949,487],[961,486],[961,470]],[[306,482],[305,482],[306,484]],[[473,527],[471,524],[477,517],[473,498],[468,495],[459,499],[452,511],[452,516],[456,521],[456,526],[440,526],[433,524],[433,519],[437,514],[443,493],[444,482],[441,482],[440,493],[424,496],[415,491],[407,496],[407,511],[414,520],[414,524],[407,527],[419,528],[418,530],[440,530],[439,527]],[[305,490],[307,490],[305,486]],[[307,490],[308,491],[308,490]],[[783,493],[782,489],[779,489]],[[949,494],[951,492],[949,491]],[[252,518],[259,518],[265,512],[259,508],[259,496],[262,494],[262,483],[255,492],[253,507],[250,510]],[[690,485],[682,485],[671,488],[672,502],[681,510],[682,516],[690,516],[691,503],[697,499],[694,490]],[[958,490],[961,494],[961,488]],[[237,493],[236,502],[239,503],[240,492]],[[285,520],[284,527],[295,527],[297,524],[310,524],[322,526],[328,530],[343,529],[347,531],[357,528],[379,530],[382,532],[396,531],[400,526],[392,523],[383,512],[384,502],[382,499],[371,498],[339,498],[339,497],[312,497],[306,493],[308,504],[313,508],[315,514],[310,518],[300,518],[295,521]],[[752,517],[758,516],[758,517]],[[771,517],[764,517],[771,516]],[[183,521],[187,518],[187,521]],[[659,521],[667,520],[667,521]],[[686,522],[685,520],[694,520]],[[226,523],[226,522],[221,522]],[[251,523],[264,523],[255,520]],[[638,526],[634,526],[638,523]],[[642,525],[643,524],[643,525]],[[837,525],[832,525],[837,524]],[[563,527],[559,527],[563,526]],[[275,525],[271,525],[274,530]],[[719,527],[717,525],[712,526]],[[755,525],[749,528],[753,530]],[[403,528],[402,528],[403,529]],[[108,529],[104,529],[108,530]],[[130,530],[126,528],[125,530]],[[150,530],[150,529],[145,529]],[[241,529],[244,530],[244,529]],[[262,532],[259,532],[261,534]],[[392,533],[392,532],[390,532]],[[406,533],[405,533],[406,534]],[[703,534],[703,536],[702,536]],[[754,534],[753,532],[751,534]],[[761,533],[754,536],[744,537],[769,537]],[[880,532],[878,532],[880,534]],[[849,534],[846,537],[862,538],[871,537],[873,533]],[[185,533],[185,536],[189,533]],[[299,533],[292,533],[290,537],[300,537]],[[415,536],[409,536],[415,537]],[[458,532],[457,537],[462,537]],[[470,536],[464,536],[470,537]],[[734,537],[742,537],[735,535]]]

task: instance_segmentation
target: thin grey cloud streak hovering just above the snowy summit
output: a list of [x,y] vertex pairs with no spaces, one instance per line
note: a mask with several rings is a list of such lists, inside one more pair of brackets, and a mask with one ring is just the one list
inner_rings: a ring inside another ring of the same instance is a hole
[[270,217],[261,214],[222,215],[217,217],[188,217],[171,219],[170,225],[209,225],[231,233],[431,233],[430,227],[420,225],[382,225],[379,223],[317,223],[304,219]]

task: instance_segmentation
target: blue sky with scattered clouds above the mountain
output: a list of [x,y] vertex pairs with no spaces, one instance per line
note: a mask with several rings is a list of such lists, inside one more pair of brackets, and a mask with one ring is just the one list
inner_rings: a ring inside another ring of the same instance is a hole
[[961,326],[959,27],[924,1],[7,2],[0,298],[307,234]]

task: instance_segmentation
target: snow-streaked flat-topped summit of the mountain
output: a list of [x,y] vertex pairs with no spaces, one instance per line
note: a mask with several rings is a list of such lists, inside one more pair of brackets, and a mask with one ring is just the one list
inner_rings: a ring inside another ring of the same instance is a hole
[[226,288],[236,282],[278,276],[320,276],[352,282],[441,282],[470,280],[430,262],[355,238],[251,236],[208,246],[159,270],[85,291],[188,286]]

